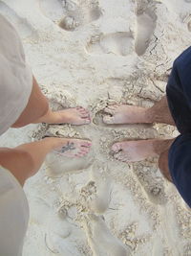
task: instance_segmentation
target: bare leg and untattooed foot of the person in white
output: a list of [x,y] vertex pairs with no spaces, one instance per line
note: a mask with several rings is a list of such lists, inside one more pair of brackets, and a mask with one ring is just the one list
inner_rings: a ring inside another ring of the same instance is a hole
[[28,105],[13,124],[12,128],[20,128],[31,123],[48,124],[90,124],[90,114],[83,107],[74,107],[61,111],[52,111],[47,98],[41,92],[37,82],[33,78],[32,94]]

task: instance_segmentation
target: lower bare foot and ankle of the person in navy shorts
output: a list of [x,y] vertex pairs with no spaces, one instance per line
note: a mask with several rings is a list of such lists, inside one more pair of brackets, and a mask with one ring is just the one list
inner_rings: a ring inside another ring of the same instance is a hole
[[149,156],[157,156],[166,151],[173,140],[138,140],[117,142],[112,146],[114,157],[122,162],[137,162]]

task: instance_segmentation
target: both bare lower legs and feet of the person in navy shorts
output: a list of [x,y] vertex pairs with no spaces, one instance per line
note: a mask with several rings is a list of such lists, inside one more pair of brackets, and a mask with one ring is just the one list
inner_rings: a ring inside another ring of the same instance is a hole
[[[103,117],[106,124],[164,123],[174,126],[166,96],[150,108],[132,105],[108,105]],[[169,181],[168,150],[173,140],[138,140],[117,142],[112,146],[114,157],[122,162],[135,162],[149,156],[159,156],[159,169]]]

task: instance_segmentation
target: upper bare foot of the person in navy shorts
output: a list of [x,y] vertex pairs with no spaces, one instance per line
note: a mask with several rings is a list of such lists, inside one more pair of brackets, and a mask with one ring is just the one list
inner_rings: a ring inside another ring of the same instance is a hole
[[133,105],[108,105],[104,108],[104,112],[109,115],[103,117],[103,122],[106,124],[151,123],[146,109]]

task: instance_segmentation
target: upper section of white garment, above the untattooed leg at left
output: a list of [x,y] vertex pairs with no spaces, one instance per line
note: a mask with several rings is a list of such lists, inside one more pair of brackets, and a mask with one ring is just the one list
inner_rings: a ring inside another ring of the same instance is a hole
[[0,14],[0,135],[11,127],[29,102],[32,71],[19,36]]

